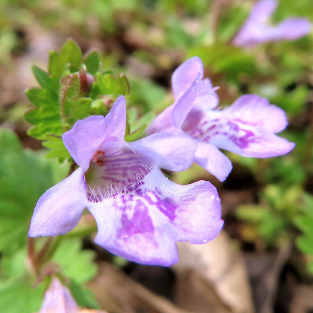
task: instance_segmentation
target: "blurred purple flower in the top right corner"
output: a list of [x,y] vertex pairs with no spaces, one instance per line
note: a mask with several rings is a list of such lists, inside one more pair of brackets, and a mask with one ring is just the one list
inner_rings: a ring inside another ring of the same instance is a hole
[[296,40],[310,32],[311,24],[306,18],[287,18],[276,26],[269,26],[268,20],[276,7],[275,0],[258,1],[233,38],[233,44],[238,47],[254,47],[268,41]]

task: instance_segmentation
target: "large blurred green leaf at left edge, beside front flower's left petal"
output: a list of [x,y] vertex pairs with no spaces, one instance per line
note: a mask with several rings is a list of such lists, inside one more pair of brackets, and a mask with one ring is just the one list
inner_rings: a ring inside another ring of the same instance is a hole
[[0,130],[0,251],[12,254],[27,240],[38,198],[55,183],[45,158],[23,150],[17,136]]

